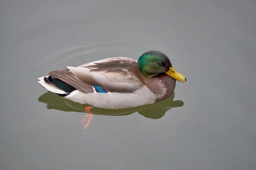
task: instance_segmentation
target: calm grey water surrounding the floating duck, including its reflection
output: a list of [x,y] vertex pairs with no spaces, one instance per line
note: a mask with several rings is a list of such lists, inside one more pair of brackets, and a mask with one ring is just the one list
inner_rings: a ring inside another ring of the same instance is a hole
[[[256,1],[2,0],[1,170],[255,170]],[[37,78],[158,50],[186,83],[166,101],[95,109]]]

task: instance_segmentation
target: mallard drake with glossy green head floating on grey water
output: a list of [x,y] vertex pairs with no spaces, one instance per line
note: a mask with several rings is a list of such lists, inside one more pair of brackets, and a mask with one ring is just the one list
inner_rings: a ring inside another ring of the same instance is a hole
[[176,80],[186,82],[169,58],[159,51],[143,53],[138,61],[107,58],[49,72],[38,78],[47,90],[79,104],[125,109],[152,104],[169,98]]

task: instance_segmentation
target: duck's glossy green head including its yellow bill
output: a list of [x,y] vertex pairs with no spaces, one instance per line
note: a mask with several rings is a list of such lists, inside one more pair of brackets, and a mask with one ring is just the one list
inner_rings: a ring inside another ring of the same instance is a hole
[[166,73],[177,81],[186,82],[185,76],[177,72],[172,67],[169,58],[159,51],[143,53],[138,60],[138,67],[140,72],[147,77],[156,76],[158,73]]

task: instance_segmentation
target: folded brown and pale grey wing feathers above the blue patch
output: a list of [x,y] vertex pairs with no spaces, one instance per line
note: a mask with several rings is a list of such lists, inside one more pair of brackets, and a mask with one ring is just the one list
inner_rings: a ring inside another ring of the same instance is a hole
[[[92,86],[105,92],[134,92],[143,86],[137,61],[131,58],[108,58],[80,66],[49,72],[81,92],[92,92]],[[94,87],[93,87],[94,88]]]

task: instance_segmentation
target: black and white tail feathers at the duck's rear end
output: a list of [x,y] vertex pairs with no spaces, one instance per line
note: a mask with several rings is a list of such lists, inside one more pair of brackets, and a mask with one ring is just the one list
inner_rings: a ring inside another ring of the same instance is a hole
[[50,92],[54,92],[62,97],[69,95],[71,92],[76,90],[73,86],[61,81],[58,78],[52,76],[44,76],[38,78],[38,83],[42,84]]

